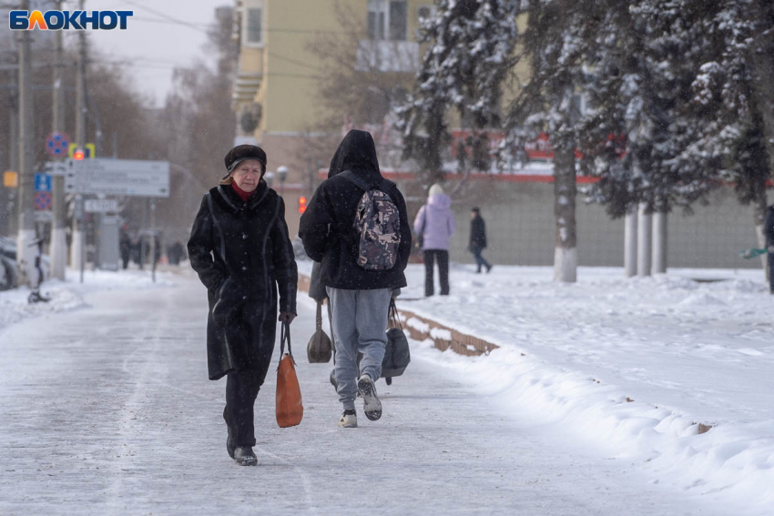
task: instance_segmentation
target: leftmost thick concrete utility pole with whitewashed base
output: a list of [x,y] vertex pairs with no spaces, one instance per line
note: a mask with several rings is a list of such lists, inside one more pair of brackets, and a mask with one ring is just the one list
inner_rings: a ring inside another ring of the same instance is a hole
[[[29,11],[29,0],[20,2]],[[16,238],[16,262],[19,283],[35,287],[35,169],[33,149],[35,118],[32,96],[31,31],[19,31],[19,228]]]

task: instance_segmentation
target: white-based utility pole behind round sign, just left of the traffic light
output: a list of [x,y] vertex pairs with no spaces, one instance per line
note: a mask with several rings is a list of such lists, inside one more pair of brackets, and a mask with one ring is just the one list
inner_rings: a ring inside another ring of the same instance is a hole
[[[62,0],[57,0],[56,10],[62,10]],[[65,85],[62,84],[64,76],[64,54],[62,50],[62,31],[54,33],[54,45],[56,51],[56,67],[54,68],[54,131],[65,132]],[[67,240],[65,236],[65,224],[67,218],[67,206],[65,202],[65,177],[54,176],[54,224],[51,229],[51,275],[54,278],[65,280],[67,267]]]

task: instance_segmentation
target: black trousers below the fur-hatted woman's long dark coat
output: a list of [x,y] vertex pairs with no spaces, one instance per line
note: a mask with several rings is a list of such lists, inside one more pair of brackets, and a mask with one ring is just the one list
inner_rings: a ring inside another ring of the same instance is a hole
[[226,408],[223,419],[231,430],[234,447],[255,446],[255,412],[253,406],[260,386],[266,378],[265,369],[248,369],[226,375]]

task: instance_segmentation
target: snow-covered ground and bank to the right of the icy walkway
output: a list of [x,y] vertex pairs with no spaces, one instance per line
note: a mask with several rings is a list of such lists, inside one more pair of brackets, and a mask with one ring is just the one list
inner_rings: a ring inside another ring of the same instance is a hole
[[423,266],[410,266],[399,308],[500,346],[467,358],[427,341],[415,354],[652,482],[774,513],[774,298],[762,272],[581,268],[574,285],[552,275],[453,266],[452,295],[423,298]]

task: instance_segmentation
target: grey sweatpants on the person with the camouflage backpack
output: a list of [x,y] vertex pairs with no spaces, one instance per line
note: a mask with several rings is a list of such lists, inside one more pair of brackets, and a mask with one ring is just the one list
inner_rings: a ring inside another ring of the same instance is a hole
[[[392,288],[344,290],[326,288],[333,310],[333,346],[336,348],[336,381],[344,410],[355,408],[359,373],[374,381],[382,376],[387,345],[387,319]],[[358,350],[362,353],[358,371]]]

